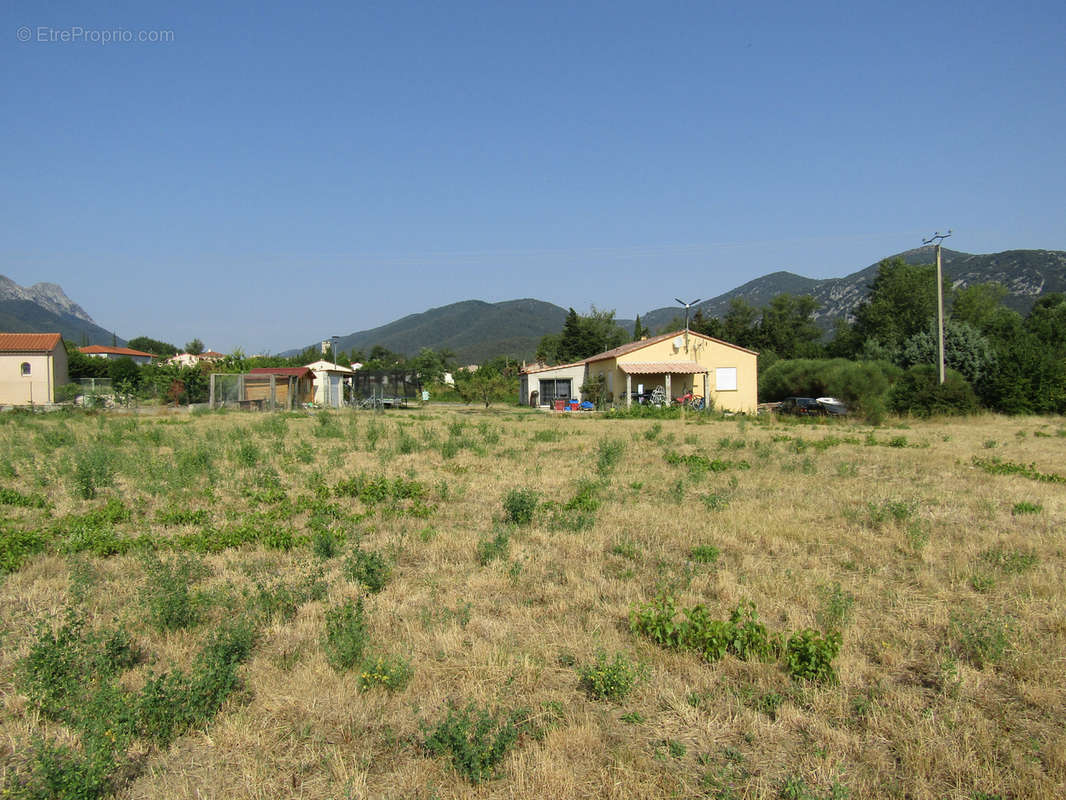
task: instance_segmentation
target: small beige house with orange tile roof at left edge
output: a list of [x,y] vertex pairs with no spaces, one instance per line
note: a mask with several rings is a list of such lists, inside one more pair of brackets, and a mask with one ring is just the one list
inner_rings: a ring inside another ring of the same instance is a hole
[[0,405],[55,402],[55,387],[69,382],[60,334],[0,333]]

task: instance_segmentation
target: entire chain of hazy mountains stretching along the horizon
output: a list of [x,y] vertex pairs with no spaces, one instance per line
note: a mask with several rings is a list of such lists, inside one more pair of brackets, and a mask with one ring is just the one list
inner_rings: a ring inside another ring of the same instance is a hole
[[[980,283],[1000,283],[1010,292],[1005,304],[1022,314],[1043,294],[1066,292],[1064,251],[1010,250],[974,255],[942,249],[941,256],[946,285],[964,287]],[[931,263],[935,258],[932,245],[889,257],[899,257],[908,263]],[[821,327],[828,331],[837,319],[847,317],[866,297],[877,274],[878,263],[879,261],[844,277],[835,278],[817,279],[787,271],[772,272],[724,294],[705,300],[694,306],[693,310],[699,309],[709,317],[722,317],[734,298],[761,307],[777,294],[810,294],[820,304],[814,319]],[[342,336],[338,347],[348,352],[367,352],[379,345],[405,355],[414,355],[427,347],[450,350],[462,364],[479,364],[498,355],[530,358],[543,336],[562,330],[566,314],[566,308],[531,298],[499,303],[465,300]],[[641,320],[655,332],[681,315],[680,308],[665,306],[642,314]],[[619,319],[617,322],[632,332],[633,320]],[[64,338],[79,343],[112,343],[112,333],[96,324],[60,286],[37,283],[21,287],[3,275],[0,275],[0,331],[59,331]],[[140,333],[151,335],[151,332]],[[124,345],[125,340],[117,339],[117,342]],[[295,355],[304,349],[306,346],[286,351],[281,355]]]

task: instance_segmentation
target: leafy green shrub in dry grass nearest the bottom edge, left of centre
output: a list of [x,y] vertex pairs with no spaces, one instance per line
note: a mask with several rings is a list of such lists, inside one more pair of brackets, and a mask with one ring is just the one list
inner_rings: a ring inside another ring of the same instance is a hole
[[465,708],[450,705],[423,747],[431,755],[443,755],[471,783],[496,774],[497,767],[518,740],[518,715],[497,716],[471,703]]

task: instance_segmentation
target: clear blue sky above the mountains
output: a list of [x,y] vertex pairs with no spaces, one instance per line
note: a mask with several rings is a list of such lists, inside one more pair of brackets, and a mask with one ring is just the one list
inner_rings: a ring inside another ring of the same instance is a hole
[[307,5],[4,2],[0,273],[253,353],[1066,250],[1062,0]]

